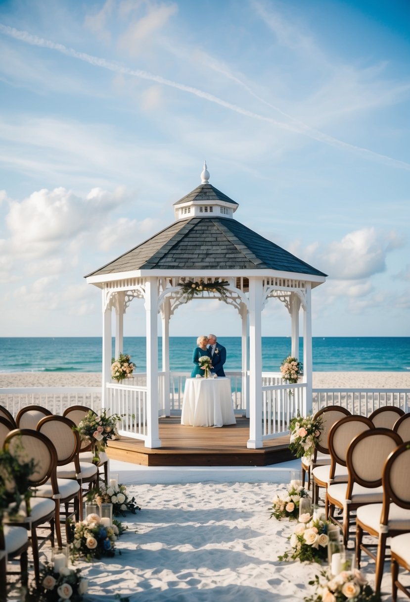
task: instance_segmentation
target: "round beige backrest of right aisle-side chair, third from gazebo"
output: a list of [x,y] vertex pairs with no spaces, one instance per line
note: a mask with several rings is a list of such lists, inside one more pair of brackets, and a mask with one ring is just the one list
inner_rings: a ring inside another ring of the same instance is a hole
[[386,460],[401,443],[400,436],[390,429],[370,429],[357,435],[347,450],[347,491],[351,493],[353,483],[368,488],[380,487]]

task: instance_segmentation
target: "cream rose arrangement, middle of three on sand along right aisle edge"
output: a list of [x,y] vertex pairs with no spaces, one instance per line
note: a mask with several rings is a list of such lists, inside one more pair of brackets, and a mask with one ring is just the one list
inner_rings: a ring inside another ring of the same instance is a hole
[[301,560],[322,562],[328,559],[328,528],[330,521],[313,519],[310,514],[302,514],[295,531],[290,536],[292,550],[286,551],[279,560]]

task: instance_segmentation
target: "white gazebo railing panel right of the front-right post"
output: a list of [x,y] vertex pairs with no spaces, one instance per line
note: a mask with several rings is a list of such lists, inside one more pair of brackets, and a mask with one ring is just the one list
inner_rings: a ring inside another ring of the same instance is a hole
[[289,433],[290,420],[303,414],[305,389],[305,383],[262,386],[263,441]]

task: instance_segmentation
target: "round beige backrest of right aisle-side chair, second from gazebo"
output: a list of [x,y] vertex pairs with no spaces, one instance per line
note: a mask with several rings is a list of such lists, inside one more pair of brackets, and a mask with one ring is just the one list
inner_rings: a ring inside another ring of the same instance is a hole
[[347,448],[354,439],[364,430],[373,430],[375,427],[365,416],[346,416],[341,418],[329,430],[328,447],[331,455],[330,476],[334,477],[336,464],[346,466]]

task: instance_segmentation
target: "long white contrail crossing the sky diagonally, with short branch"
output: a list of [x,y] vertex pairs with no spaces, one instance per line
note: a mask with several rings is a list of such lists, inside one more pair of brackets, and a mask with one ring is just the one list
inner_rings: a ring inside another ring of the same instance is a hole
[[[347,142],[338,140],[337,138],[333,138],[327,134],[323,134],[323,132],[310,128],[310,126],[307,126],[302,122],[298,122],[297,120],[293,119],[293,117],[290,117],[286,113],[283,113],[283,111],[280,111],[280,113],[288,117],[289,119],[292,119],[294,122],[293,124],[284,123],[273,119],[272,117],[266,117],[264,115],[260,115],[259,113],[254,113],[253,111],[249,111],[248,109],[239,107],[238,105],[234,105],[231,102],[224,101],[223,99],[218,98],[218,96],[214,96],[212,94],[209,94],[208,92],[204,92],[204,90],[199,90],[198,88],[194,88],[185,84],[180,84],[179,82],[175,82],[171,79],[164,78],[161,75],[155,75],[153,73],[149,73],[140,69],[130,69],[129,67],[124,67],[118,63],[114,63],[113,61],[107,61],[105,58],[94,57],[93,55],[86,54],[85,52],[78,52],[73,48],[67,48],[67,46],[64,46],[63,44],[58,44],[52,42],[51,40],[46,40],[38,36],[32,36],[32,34],[29,34],[27,31],[19,31],[19,29],[15,29],[14,27],[10,27],[8,25],[3,25],[2,23],[0,23],[0,33],[5,34],[6,36],[10,36],[16,40],[20,40],[20,42],[25,42],[26,44],[29,44],[31,46],[41,46],[41,48],[49,48],[51,50],[61,52],[61,54],[65,54],[68,57],[76,58],[96,67],[101,67],[102,69],[108,69],[116,73],[130,75],[141,79],[148,79],[149,81],[155,81],[158,84],[167,85],[171,88],[177,88],[177,90],[181,90],[182,92],[187,92],[194,96],[198,96],[198,98],[203,98],[206,101],[218,104],[221,107],[227,108],[228,110],[234,111],[235,113],[239,113],[245,117],[251,117],[251,119],[257,119],[263,122],[267,122],[277,128],[285,129],[296,134],[303,134],[309,138],[313,138],[313,140],[323,142],[338,148],[343,148],[349,152],[354,152],[355,154],[360,154],[364,158],[372,158],[373,160],[382,161],[382,163],[391,165],[393,167],[399,167],[400,169],[410,170],[410,164],[405,163],[405,161],[399,161],[397,159],[387,157],[387,155],[381,155],[379,153],[369,151],[369,149],[362,148],[360,146],[355,146],[353,144],[349,144]],[[248,92],[251,92],[252,96],[255,96],[255,98],[271,106],[272,108],[275,108],[275,110],[278,110],[277,107],[270,105],[269,102],[266,102],[262,98],[259,98],[259,96],[255,95],[255,93],[252,92],[252,90],[248,88],[246,84],[243,84],[243,82],[241,82],[239,79],[234,78],[233,76],[231,76],[231,78],[237,81],[237,83],[239,83],[240,85],[245,86]]]

